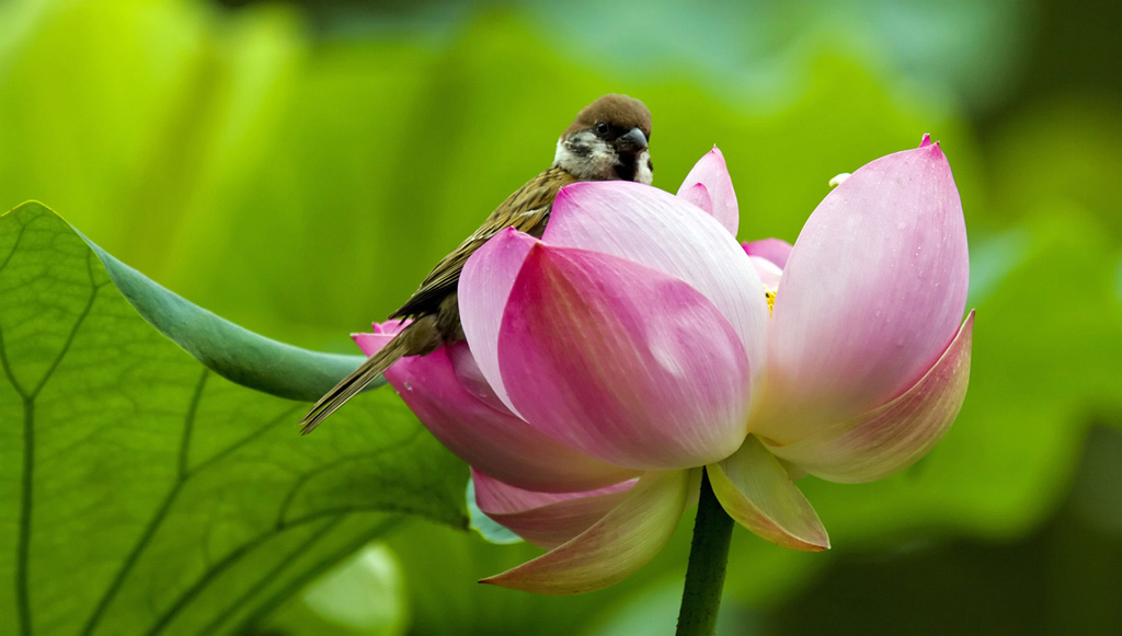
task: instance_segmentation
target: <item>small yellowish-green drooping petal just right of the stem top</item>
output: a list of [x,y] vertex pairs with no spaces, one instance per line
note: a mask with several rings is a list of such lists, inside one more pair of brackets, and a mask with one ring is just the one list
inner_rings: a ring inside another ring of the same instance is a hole
[[742,526],[782,547],[829,549],[830,540],[815,508],[754,435],[748,435],[736,454],[706,470],[717,500]]

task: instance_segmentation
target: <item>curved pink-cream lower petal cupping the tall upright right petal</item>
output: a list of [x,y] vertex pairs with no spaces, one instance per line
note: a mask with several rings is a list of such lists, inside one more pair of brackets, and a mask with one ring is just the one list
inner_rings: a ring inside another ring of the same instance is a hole
[[[966,397],[974,312],[913,387],[868,413],[785,446],[775,455],[829,481],[859,483],[916,463],[950,428]],[[766,442],[766,440],[764,440]]]

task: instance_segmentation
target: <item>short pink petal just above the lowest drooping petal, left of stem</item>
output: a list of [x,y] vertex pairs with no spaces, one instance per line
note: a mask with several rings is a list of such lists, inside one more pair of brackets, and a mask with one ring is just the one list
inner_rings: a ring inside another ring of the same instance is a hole
[[552,550],[600,520],[635,481],[585,492],[533,492],[471,470],[476,504],[496,523],[544,550]]

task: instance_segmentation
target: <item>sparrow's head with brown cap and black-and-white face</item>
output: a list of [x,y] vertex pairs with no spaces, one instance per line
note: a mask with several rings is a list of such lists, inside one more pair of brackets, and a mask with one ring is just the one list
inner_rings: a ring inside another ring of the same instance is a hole
[[651,184],[651,111],[627,95],[609,94],[580,111],[558,139],[553,165],[581,181]]

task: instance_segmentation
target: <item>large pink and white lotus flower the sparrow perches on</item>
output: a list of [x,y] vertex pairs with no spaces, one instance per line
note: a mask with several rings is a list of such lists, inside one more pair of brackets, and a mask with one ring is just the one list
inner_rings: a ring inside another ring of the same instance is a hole
[[[460,280],[466,342],[389,382],[472,467],[479,507],[546,550],[484,582],[606,587],[653,557],[706,468],[760,536],[824,550],[794,485],[901,470],[965,397],[973,312],[950,166],[925,137],[815,210],[792,248],[739,245],[719,150],[678,195],[562,190],[541,240],[508,230]],[[356,341],[368,354],[397,329]]]

